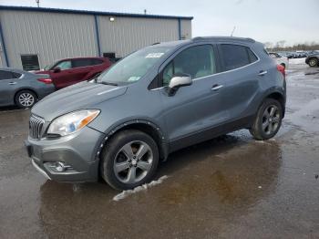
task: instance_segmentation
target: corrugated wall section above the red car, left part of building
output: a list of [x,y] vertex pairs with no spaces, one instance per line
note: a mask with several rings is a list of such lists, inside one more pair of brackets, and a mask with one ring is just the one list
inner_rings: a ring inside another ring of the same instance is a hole
[[63,57],[97,56],[93,16],[1,11],[10,67],[22,68],[20,55],[38,54],[40,67]]

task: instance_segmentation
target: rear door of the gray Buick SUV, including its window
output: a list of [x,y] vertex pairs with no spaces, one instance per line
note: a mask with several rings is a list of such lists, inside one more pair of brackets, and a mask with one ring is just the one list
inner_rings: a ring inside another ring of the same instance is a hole
[[263,73],[259,72],[260,61],[247,46],[230,43],[220,44],[218,48],[224,89],[222,105],[230,111],[229,120],[240,120],[252,114],[250,106],[258,94],[259,80],[263,77]]

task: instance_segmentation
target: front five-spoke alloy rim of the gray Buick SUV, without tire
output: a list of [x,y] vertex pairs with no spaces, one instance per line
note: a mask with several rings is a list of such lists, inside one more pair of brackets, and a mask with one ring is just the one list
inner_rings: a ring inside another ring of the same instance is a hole
[[153,163],[153,152],[144,141],[130,141],[117,153],[114,172],[120,182],[136,183],[149,173]]

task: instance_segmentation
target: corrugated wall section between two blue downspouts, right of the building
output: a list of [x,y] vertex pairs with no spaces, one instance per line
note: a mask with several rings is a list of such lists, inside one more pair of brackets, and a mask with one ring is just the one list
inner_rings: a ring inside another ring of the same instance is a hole
[[115,52],[117,57],[125,57],[140,47],[156,42],[179,39],[177,19],[153,19],[98,16],[101,52]]

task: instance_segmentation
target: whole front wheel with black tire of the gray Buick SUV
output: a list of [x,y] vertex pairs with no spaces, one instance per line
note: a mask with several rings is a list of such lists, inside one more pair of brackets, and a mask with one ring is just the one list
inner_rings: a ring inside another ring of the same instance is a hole
[[103,149],[100,174],[114,189],[129,190],[152,180],[158,164],[159,149],[148,134],[123,130]]

